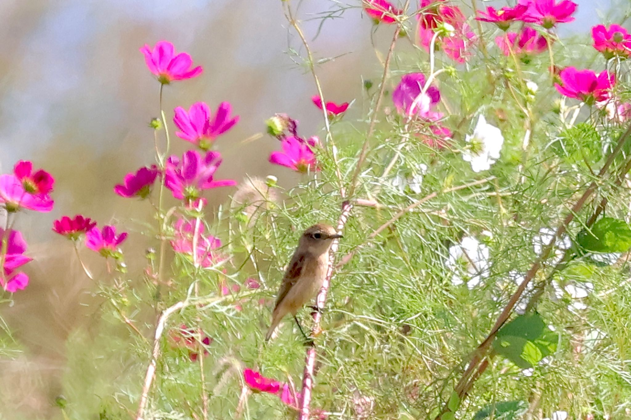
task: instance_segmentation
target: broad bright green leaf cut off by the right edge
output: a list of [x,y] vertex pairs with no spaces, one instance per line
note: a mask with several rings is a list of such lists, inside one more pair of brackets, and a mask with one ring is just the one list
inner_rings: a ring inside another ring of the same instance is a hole
[[576,237],[586,251],[625,253],[631,248],[631,228],[624,220],[603,217],[590,230],[581,230]]

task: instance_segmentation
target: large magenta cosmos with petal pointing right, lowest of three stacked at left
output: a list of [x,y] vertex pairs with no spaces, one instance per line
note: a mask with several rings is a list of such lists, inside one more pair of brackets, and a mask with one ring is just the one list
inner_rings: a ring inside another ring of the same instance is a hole
[[219,152],[206,152],[204,156],[197,150],[184,152],[182,160],[171,156],[165,167],[164,184],[179,200],[197,200],[202,190],[220,186],[232,186],[232,179],[215,180],[215,171],[221,164]]

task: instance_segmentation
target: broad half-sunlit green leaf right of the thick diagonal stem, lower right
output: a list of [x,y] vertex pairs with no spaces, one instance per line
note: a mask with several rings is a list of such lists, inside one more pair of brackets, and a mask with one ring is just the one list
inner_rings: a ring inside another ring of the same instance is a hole
[[557,336],[539,314],[520,315],[497,333],[493,348],[521,369],[531,368],[557,349]]

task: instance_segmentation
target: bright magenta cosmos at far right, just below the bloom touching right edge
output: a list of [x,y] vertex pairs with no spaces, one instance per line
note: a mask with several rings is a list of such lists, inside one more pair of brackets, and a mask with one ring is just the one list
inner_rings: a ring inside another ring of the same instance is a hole
[[616,83],[615,75],[608,71],[596,74],[592,70],[577,70],[575,67],[565,67],[559,77],[563,84],[555,83],[557,91],[568,98],[580,99],[587,105],[610,98],[610,89]]

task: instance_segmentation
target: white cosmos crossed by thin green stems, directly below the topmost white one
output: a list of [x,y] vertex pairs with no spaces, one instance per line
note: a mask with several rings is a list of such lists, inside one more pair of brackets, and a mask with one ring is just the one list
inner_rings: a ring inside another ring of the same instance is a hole
[[481,244],[474,237],[463,237],[459,244],[449,247],[449,258],[445,264],[452,272],[451,282],[454,285],[466,283],[473,289],[488,278],[490,263],[488,246]]

